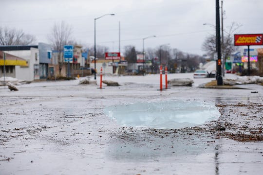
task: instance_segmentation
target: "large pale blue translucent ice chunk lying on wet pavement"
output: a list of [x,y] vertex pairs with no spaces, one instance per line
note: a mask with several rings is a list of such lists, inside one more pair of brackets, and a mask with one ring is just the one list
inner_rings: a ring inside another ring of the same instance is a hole
[[156,129],[193,127],[221,115],[212,102],[182,100],[112,105],[104,113],[123,126]]

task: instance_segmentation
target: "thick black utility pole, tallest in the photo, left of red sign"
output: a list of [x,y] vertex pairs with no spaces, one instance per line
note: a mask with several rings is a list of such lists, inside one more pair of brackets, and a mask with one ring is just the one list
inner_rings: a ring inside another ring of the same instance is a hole
[[217,48],[217,63],[218,63],[218,77],[217,85],[223,85],[222,71],[221,71],[221,41],[220,41],[220,12],[219,0],[216,0],[216,48]]

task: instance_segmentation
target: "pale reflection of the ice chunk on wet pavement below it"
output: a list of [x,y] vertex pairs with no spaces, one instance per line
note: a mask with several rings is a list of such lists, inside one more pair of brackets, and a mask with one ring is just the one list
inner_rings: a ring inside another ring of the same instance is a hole
[[110,141],[107,155],[113,159],[158,159],[214,152],[215,136],[189,129],[157,130],[124,128]]

